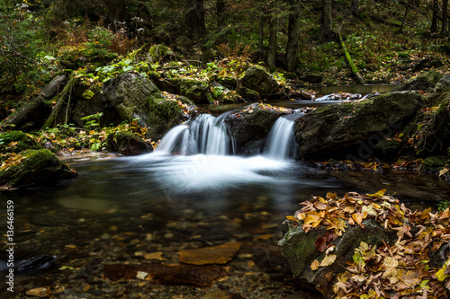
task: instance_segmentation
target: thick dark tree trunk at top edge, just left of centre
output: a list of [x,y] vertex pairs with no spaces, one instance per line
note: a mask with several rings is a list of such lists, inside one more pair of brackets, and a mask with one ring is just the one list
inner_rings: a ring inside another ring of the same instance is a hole
[[203,0],[186,1],[186,27],[195,41],[202,40],[206,34]]

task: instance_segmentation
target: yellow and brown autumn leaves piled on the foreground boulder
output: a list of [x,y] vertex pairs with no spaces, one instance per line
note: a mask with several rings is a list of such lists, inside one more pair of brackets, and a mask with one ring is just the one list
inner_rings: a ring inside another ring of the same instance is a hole
[[[313,197],[303,202],[301,210],[288,216],[305,233],[325,226],[328,233],[316,241],[319,251],[327,255],[321,262],[312,261],[311,269],[335,262],[333,241],[345,233],[347,225],[364,228],[365,218],[383,224],[385,230],[397,231],[394,244],[383,242],[356,248],[345,272],[339,273],[332,287],[334,298],[446,298],[450,290],[450,257],[442,268],[428,266],[431,252],[437,252],[450,242],[450,210],[431,213],[431,208],[412,212],[399,200],[384,195],[347,193],[338,198],[328,193],[326,198]],[[329,277],[332,280],[333,277]]]

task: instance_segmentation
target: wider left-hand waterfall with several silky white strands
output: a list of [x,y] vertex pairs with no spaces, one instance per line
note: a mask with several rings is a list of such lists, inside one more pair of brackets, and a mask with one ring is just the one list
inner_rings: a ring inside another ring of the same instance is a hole
[[228,134],[225,118],[230,112],[215,118],[201,114],[190,126],[172,128],[157,146],[157,152],[164,154],[234,154],[234,140]]

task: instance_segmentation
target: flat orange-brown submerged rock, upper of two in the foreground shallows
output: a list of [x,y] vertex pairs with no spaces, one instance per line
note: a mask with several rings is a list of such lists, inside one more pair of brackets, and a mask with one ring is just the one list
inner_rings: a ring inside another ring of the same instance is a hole
[[218,246],[178,251],[179,260],[186,264],[226,264],[240,248],[239,242],[227,242]]

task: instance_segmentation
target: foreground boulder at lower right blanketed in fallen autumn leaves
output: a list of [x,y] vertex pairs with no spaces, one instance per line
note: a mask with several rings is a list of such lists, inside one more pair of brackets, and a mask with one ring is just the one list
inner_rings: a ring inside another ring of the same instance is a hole
[[[279,245],[303,286],[317,288],[327,298],[341,298],[359,297],[369,290],[369,294],[411,294],[425,279],[430,285],[446,285],[447,276],[437,278],[436,273],[448,265],[450,240],[435,230],[448,225],[450,211],[431,214],[429,208],[413,213],[384,192],[311,197],[286,217]],[[422,265],[424,260],[429,269]],[[405,284],[406,269],[411,278],[419,279]],[[443,287],[430,289],[431,294],[442,291]]]

